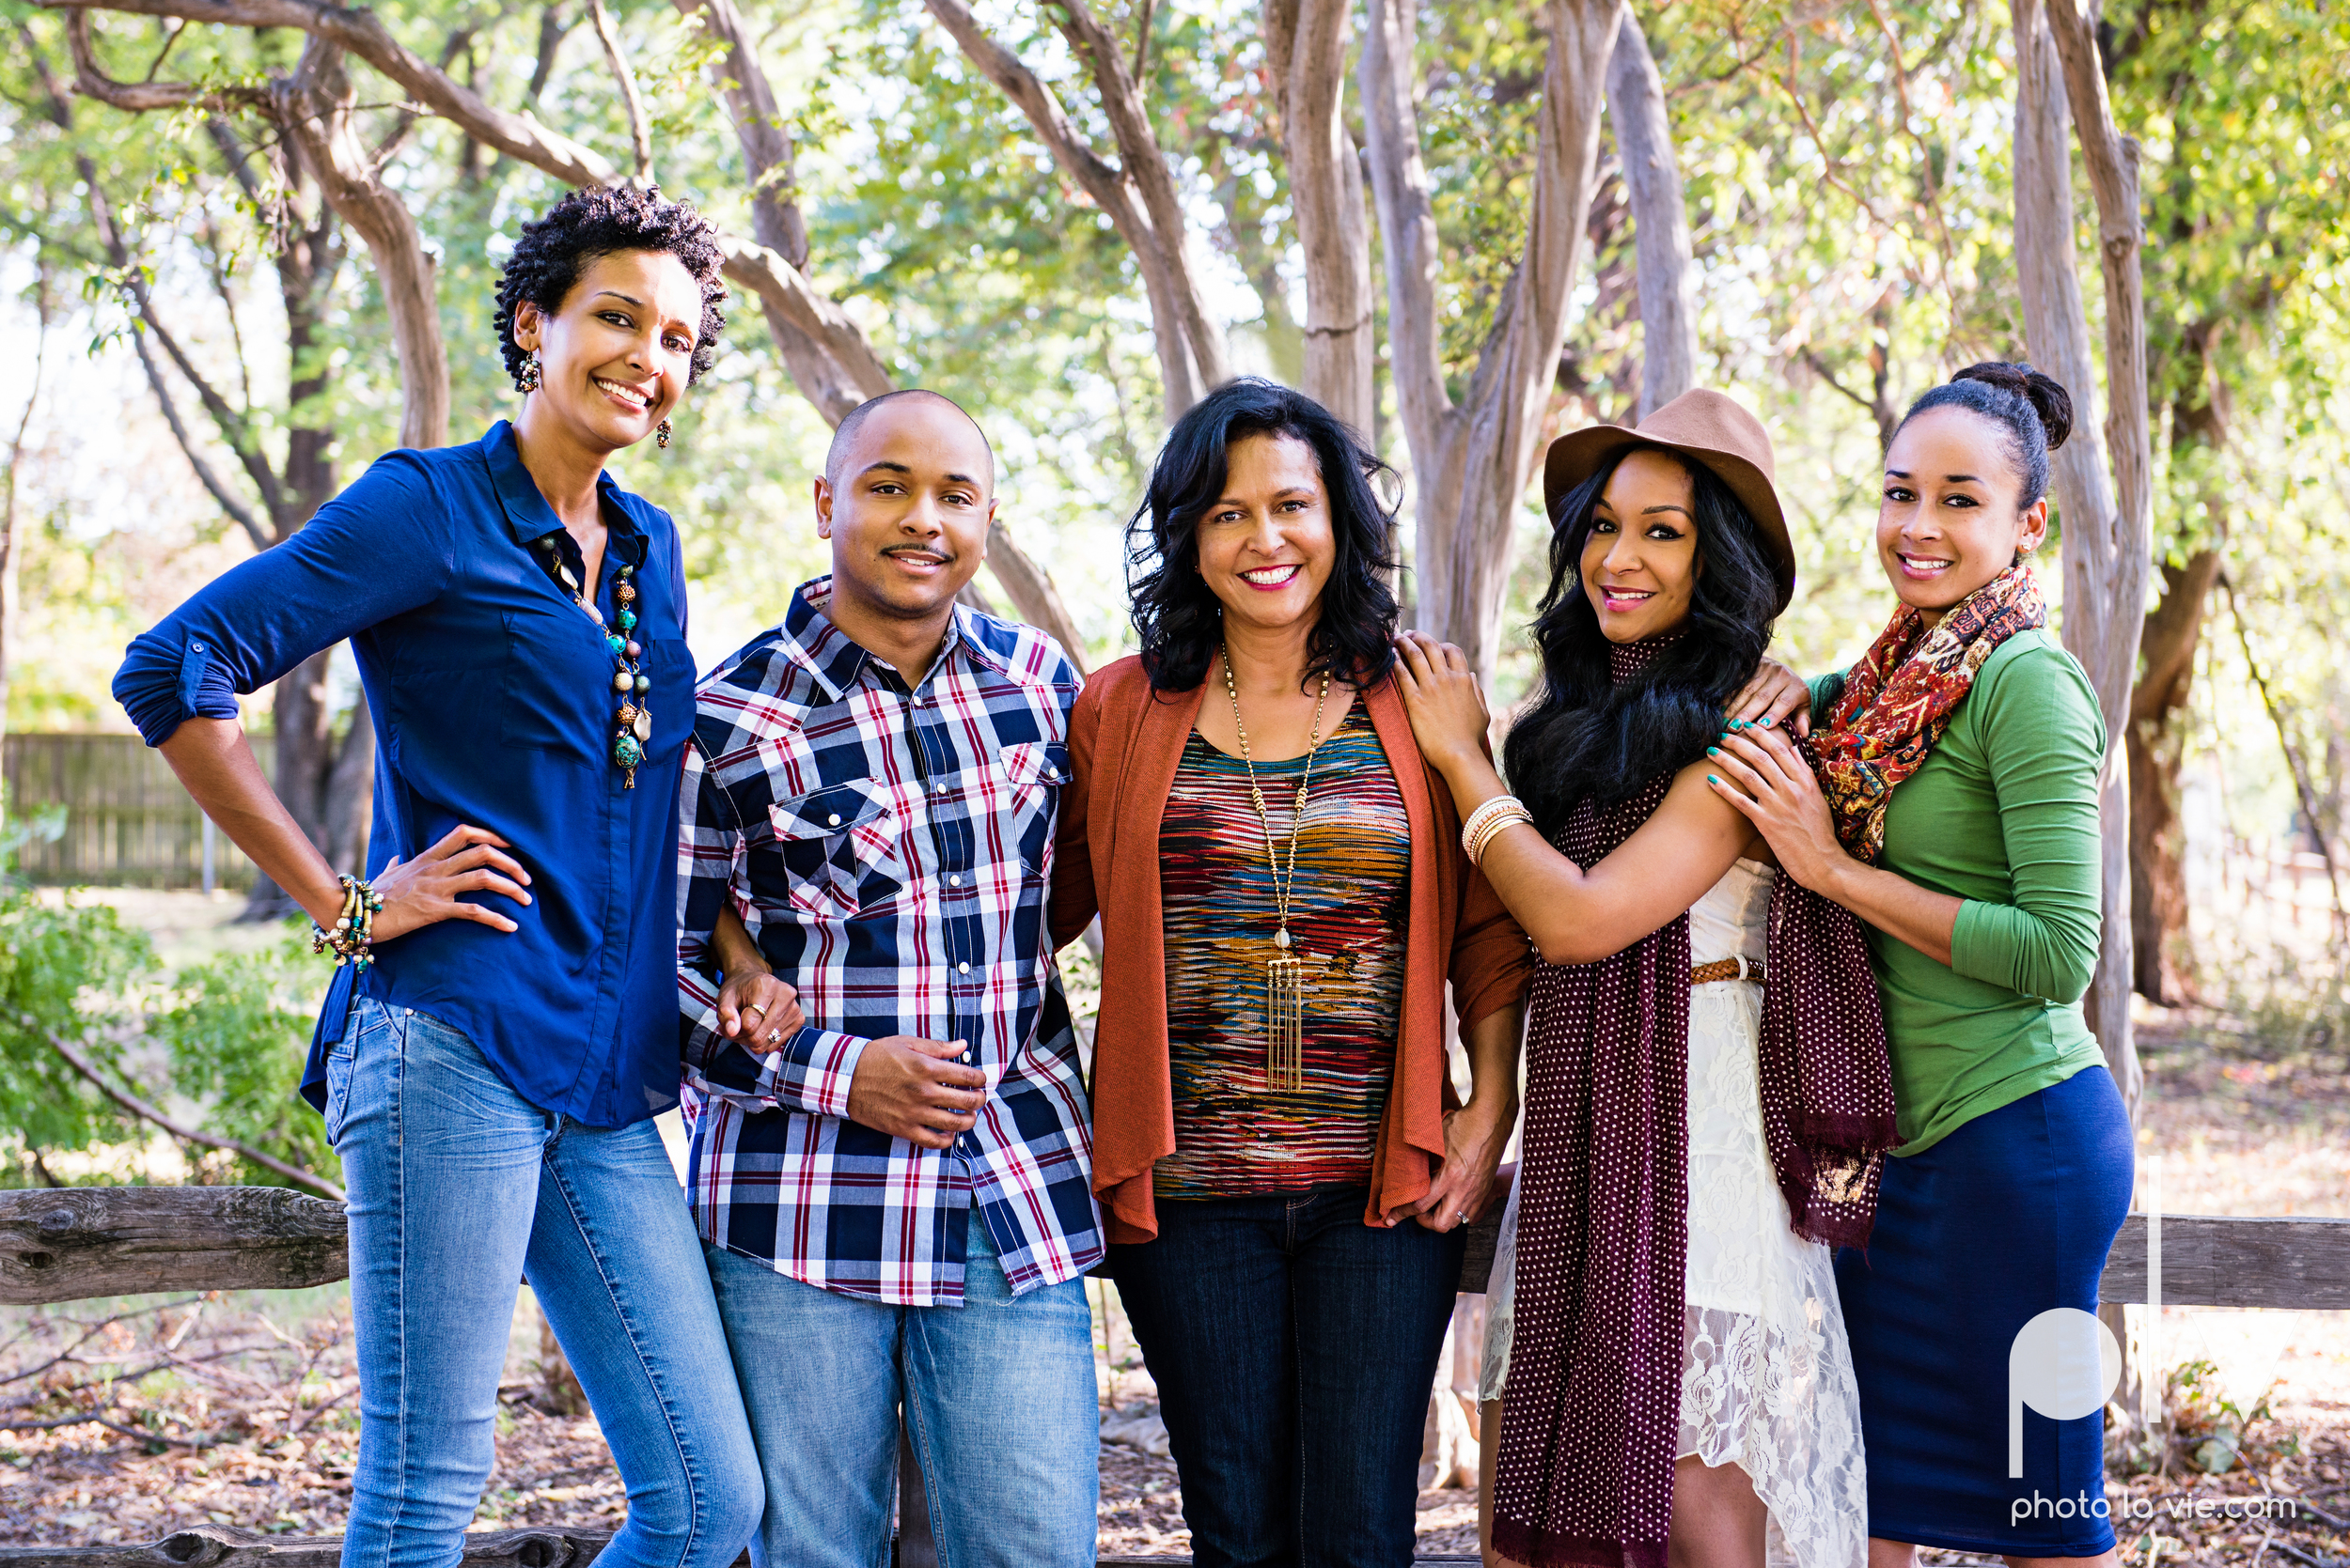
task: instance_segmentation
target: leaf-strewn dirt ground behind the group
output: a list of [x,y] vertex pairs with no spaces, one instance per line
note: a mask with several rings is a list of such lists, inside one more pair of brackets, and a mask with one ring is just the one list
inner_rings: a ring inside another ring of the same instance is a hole
[[[2162,1157],[2167,1214],[2350,1216],[2343,1040],[2148,1014],[2141,1049],[2141,1155]],[[1154,1446],[1149,1376],[1100,1286],[1095,1305],[1112,1432],[1102,1549],[1184,1554],[1175,1465],[1142,1451]],[[625,1500],[609,1451],[590,1415],[548,1408],[536,1322],[524,1293],[477,1528],[613,1528]],[[2350,1312],[2169,1307],[2162,1350],[2186,1368],[2174,1437],[2164,1451],[2117,1451],[2110,1467],[2124,1561],[2350,1568]],[[355,1394],[338,1286],[0,1307],[0,1545],[139,1542],[202,1521],[338,1533]],[[2298,1500],[2298,1516],[2282,1500]],[[1473,1554],[1476,1493],[1424,1493],[1419,1547]]]

